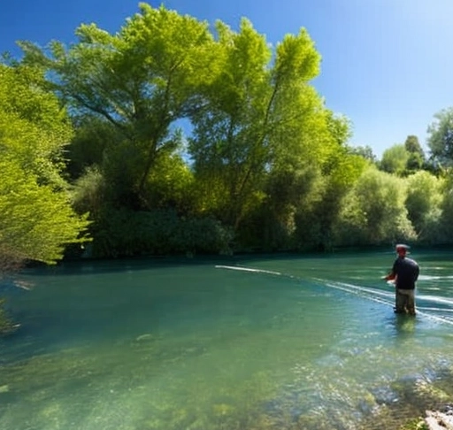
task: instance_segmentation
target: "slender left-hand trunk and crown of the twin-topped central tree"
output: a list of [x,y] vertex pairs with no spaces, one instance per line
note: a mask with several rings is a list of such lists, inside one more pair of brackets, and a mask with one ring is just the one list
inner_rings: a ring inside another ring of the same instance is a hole
[[191,117],[188,150],[196,177],[207,186],[209,211],[237,226],[260,201],[257,188],[268,161],[264,123],[271,51],[246,19],[237,34],[221,22],[217,28],[221,72],[206,88],[204,109]]

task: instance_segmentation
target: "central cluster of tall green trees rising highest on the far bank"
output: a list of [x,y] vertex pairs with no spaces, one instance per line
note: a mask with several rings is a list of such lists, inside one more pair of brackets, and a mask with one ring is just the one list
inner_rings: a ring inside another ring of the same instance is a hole
[[[253,219],[273,219],[288,238],[307,229],[309,213],[327,236],[363,159],[345,147],[349,121],[310,85],[319,73],[314,43],[301,29],[273,52],[247,19],[238,32],[216,28],[214,37],[204,22],[141,4],[115,35],[93,24],[79,27],[69,47],[21,43],[23,64],[42,66],[76,116],[67,165],[77,208],[107,224],[114,213],[109,228],[134,211],[148,228],[154,221],[142,212],[164,206],[213,216],[240,234]],[[193,126],[193,171],[178,153],[180,119]],[[279,194],[282,184],[288,192]]]

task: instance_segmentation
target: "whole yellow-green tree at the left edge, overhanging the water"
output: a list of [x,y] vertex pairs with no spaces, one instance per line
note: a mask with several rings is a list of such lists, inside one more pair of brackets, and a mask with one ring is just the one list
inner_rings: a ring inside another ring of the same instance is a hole
[[83,241],[61,177],[72,131],[58,100],[40,89],[42,74],[0,65],[0,263],[55,263],[65,245]]

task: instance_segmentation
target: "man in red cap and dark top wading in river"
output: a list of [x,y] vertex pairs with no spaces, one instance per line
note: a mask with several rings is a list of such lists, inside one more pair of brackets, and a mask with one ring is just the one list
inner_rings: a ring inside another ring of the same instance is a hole
[[395,313],[415,315],[415,282],[420,269],[415,260],[406,257],[408,249],[407,245],[396,245],[398,257],[384,279],[395,280]]

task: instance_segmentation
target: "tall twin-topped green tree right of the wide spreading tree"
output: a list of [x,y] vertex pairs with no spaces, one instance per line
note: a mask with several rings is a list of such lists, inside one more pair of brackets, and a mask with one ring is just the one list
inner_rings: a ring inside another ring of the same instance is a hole
[[237,33],[221,22],[217,30],[221,72],[192,117],[189,152],[207,210],[237,230],[269,203],[269,175],[278,181],[319,165],[334,139],[308,85],[319,73],[319,53],[305,30],[285,36],[273,62],[265,36],[247,19]]

